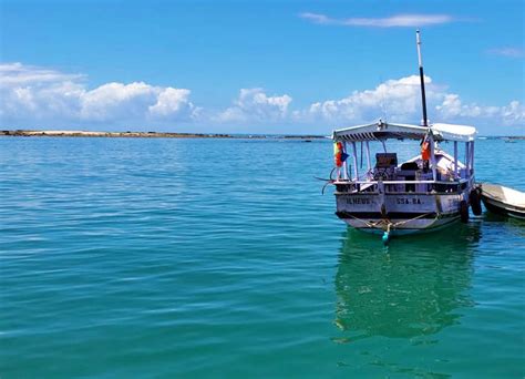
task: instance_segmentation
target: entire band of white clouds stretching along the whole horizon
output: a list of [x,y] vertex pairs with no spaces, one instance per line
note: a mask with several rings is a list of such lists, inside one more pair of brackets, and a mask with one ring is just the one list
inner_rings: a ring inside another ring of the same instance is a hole
[[[117,130],[174,127],[185,122],[192,123],[194,131],[206,132],[213,129],[226,132],[228,125],[236,125],[230,130],[264,133],[272,126],[289,125],[288,130],[297,127],[297,132],[317,127],[326,133],[333,126],[373,122],[379,117],[409,123],[421,120],[418,75],[388,80],[342,99],[320,100],[296,109],[291,109],[292,98],[288,94],[268,95],[259,88],[243,89],[230,106],[218,111],[195,106],[186,89],[144,82],[112,82],[89,89],[84,81],[81,74],[21,63],[0,64],[0,126]],[[431,122],[485,125],[488,132],[500,126],[515,131],[525,125],[523,102],[513,100],[505,105],[464,102],[429,76],[425,83]]]

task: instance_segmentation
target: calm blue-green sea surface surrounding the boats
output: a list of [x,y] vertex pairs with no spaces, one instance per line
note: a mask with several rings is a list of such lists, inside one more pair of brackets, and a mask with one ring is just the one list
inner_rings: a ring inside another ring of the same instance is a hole
[[[477,180],[525,191],[524,152],[478,141]],[[321,195],[329,141],[0,137],[0,163],[2,379],[525,375],[525,223],[384,247]]]

